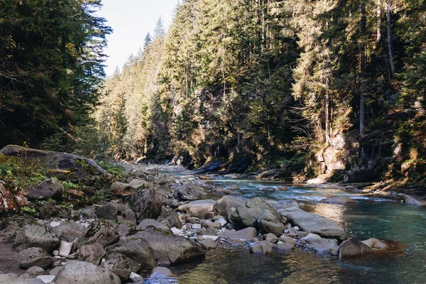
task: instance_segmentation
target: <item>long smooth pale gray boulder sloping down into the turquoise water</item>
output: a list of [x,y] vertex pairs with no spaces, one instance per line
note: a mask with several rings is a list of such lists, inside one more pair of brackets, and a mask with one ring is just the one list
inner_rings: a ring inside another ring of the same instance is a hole
[[281,216],[287,217],[291,224],[299,226],[302,231],[341,241],[348,238],[344,229],[337,222],[321,215],[305,212],[296,207],[280,209],[279,213]]

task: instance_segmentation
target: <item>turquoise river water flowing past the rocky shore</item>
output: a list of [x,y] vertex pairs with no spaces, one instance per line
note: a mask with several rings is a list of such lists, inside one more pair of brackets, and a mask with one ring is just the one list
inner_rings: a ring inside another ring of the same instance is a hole
[[[171,268],[178,275],[175,283],[426,283],[425,208],[327,187],[288,185],[287,192],[277,190],[282,184],[276,182],[215,180],[214,184],[239,185],[243,198],[305,202],[310,211],[339,222],[350,236],[402,241],[408,249],[402,255],[339,261],[298,249],[258,256],[248,249],[219,248],[208,251],[202,261]],[[357,203],[322,202],[330,196],[350,197]]]

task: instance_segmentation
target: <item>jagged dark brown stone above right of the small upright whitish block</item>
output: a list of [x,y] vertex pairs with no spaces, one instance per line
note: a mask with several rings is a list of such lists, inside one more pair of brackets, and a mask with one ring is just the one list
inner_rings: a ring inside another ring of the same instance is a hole
[[115,244],[119,240],[120,234],[114,226],[102,220],[92,222],[86,229],[79,244],[99,243],[102,246]]

